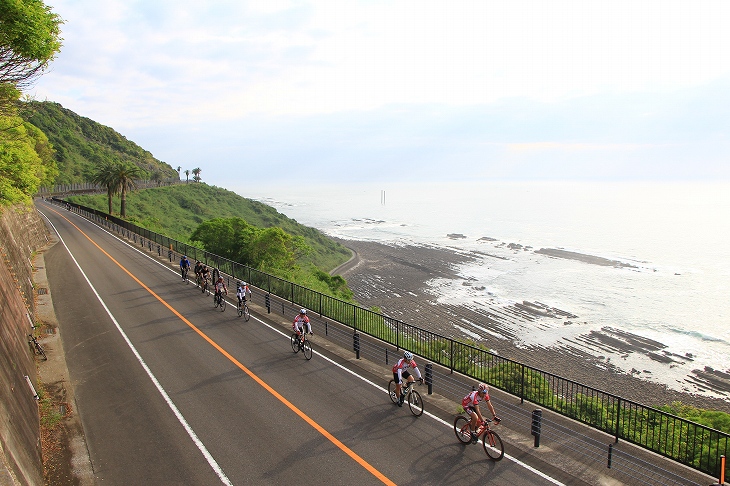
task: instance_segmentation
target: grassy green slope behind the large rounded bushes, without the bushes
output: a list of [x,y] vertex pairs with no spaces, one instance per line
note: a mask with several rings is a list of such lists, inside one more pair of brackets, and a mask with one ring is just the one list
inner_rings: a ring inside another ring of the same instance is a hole
[[[69,200],[106,212],[105,194],[74,196]],[[115,206],[119,206],[115,197]],[[260,228],[278,226],[287,233],[302,236],[312,248],[300,265],[313,264],[329,271],[350,258],[350,250],[321,231],[301,225],[258,201],[235,192],[203,183],[176,184],[142,189],[127,195],[128,220],[179,241],[190,242],[190,235],[204,221],[239,217]]]

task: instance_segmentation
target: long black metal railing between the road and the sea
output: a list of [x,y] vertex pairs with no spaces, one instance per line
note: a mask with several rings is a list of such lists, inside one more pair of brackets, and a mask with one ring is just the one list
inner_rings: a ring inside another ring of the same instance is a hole
[[397,349],[407,349],[451,372],[489,383],[522,402],[527,400],[611,434],[616,442],[631,442],[712,477],[724,474],[723,459],[730,452],[730,434],[302,287],[101,211],[54,200],[85,213],[90,220],[147,246],[150,251],[156,246],[158,255],[170,261],[187,255],[234,279],[245,280],[262,291],[344,324],[353,333],[364,333]]

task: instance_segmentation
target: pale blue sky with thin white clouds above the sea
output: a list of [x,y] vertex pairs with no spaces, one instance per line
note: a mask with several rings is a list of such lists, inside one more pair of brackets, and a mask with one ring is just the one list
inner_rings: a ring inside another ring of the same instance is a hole
[[45,3],[27,94],[209,184],[730,179],[726,0]]

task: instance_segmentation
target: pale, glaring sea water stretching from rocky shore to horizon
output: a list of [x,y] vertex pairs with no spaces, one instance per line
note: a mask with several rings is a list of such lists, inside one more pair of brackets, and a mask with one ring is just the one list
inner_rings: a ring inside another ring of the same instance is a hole
[[[250,187],[237,193],[327,234],[478,251],[459,268],[472,280],[434,280],[442,301],[539,301],[579,316],[522,330],[550,346],[605,326],[654,339],[694,361],[614,356],[626,371],[685,391],[693,369],[730,370],[730,183],[480,182]],[[460,234],[465,238],[450,238]],[[484,238],[497,241],[486,241]],[[516,243],[531,250],[512,250]],[[561,248],[619,260],[616,268],[548,258]],[[609,356],[611,357],[611,356]]]

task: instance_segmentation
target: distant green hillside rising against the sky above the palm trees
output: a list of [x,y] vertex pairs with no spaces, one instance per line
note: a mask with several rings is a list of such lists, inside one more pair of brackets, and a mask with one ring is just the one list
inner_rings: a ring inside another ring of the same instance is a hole
[[160,173],[162,180],[179,180],[169,164],[127,140],[112,128],[79,116],[58,103],[30,101],[22,110],[23,118],[38,127],[55,149],[58,165],[56,184],[88,182],[88,174],[104,162],[132,162],[150,176]]

